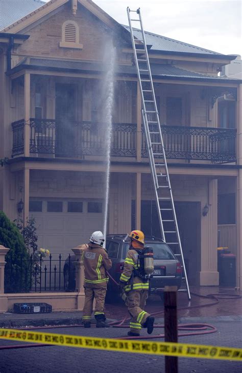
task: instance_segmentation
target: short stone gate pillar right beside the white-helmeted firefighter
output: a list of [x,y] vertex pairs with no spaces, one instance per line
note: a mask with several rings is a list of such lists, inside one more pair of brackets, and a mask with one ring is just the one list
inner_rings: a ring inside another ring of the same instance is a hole
[[82,261],[82,250],[85,248],[84,245],[79,245],[73,249],[71,249],[74,254],[76,255],[75,269],[76,269],[76,290],[78,292],[77,295],[77,310],[82,311],[84,305],[84,266]]

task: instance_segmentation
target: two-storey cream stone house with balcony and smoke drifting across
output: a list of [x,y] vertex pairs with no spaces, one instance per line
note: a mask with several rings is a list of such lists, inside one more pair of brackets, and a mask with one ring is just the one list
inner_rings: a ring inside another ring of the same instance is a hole
[[[108,233],[159,236],[128,27],[91,0],[15,3],[3,1],[0,23],[0,158],[9,158],[0,209],[12,220],[34,216],[39,246],[56,254],[103,229],[103,61],[112,42]],[[146,37],[188,279],[219,284],[219,230],[241,287],[242,85],[218,76],[235,56]]]

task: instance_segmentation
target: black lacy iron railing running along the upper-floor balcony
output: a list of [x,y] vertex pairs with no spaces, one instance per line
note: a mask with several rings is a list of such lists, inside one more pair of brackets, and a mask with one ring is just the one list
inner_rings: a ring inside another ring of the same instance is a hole
[[[12,156],[24,154],[25,121],[12,123]],[[166,157],[204,160],[211,163],[236,161],[236,129],[161,126]],[[106,131],[102,123],[30,119],[30,154],[35,156],[77,158],[102,156],[106,153]],[[114,123],[111,156],[136,158],[136,124]],[[157,142],[157,135],[151,135]],[[156,152],[160,149],[157,146]],[[141,136],[141,157],[148,157],[145,135]]]

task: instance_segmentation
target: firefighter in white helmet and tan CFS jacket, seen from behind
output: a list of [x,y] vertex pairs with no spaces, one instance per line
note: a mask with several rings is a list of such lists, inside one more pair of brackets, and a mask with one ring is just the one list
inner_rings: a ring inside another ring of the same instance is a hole
[[103,248],[104,236],[100,231],[92,233],[89,244],[83,249],[85,303],[82,322],[84,327],[91,326],[93,300],[95,298],[96,327],[108,327],[104,314],[104,302],[107,291],[108,271],[112,262]]

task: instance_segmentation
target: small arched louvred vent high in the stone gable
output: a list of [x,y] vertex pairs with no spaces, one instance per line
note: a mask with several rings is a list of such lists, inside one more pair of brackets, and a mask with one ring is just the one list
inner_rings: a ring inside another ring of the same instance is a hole
[[60,47],[83,48],[83,45],[79,44],[79,27],[75,21],[67,20],[63,23]]

